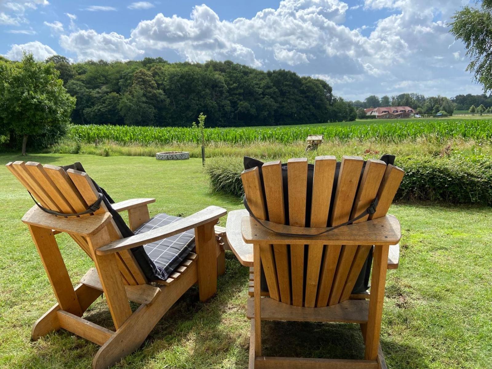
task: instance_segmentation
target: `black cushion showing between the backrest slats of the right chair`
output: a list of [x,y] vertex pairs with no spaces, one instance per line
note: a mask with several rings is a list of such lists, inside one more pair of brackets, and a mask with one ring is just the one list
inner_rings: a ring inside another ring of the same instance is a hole
[[[395,162],[395,156],[394,155],[389,155],[389,154],[384,154],[381,156],[379,159],[381,161],[384,161],[386,164],[394,164]],[[258,167],[258,170],[260,172],[260,179],[261,179],[261,187],[263,190],[263,197],[265,198],[265,184],[263,183],[263,175],[262,175],[262,170],[261,166],[263,165],[263,162],[258,159],[254,159],[249,156],[244,157],[244,167],[245,169],[251,169],[254,167]],[[340,172],[340,166],[341,162],[338,161],[335,169],[335,178],[334,178],[334,184],[333,184],[333,190],[332,190],[332,199],[330,202],[330,211],[329,211],[329,219],[327,224],[330,224],[331,222],[331,207],[333,206],[333,202],[335,199],[335,193],[337,190],[337,184],[338,184],[338,174]],[[285,224],[289,224],[289,194],[288,194],[288,175],[287,175],[287,164],[281,164],[282,167],[282,186],[283,186],[283,197],[284,197],[284,204],[285,204]],[[362,166],[361,170],[361,178],[362,174],[364,173],[364,169],[366,168],[366,161],[364,161],[364,164]],[[311,214],[311,198],[312,198],[312,182],[313,182],[313,176],[314,176],[314,164],[307,164],[307,191],[306,191],[306,227],[310,226],[310,214]],[[268,210],[267,210],[268,214]],[[268,217],[267,217],[268,219]],[[366,259],[366,262],[364,263],[364,266],[362,267],[361,273],[359,274],[359,277],[357,278],[357,282],[355,283],[354,289],[352,290],[352,293],[361,293],[364,291],[367,291],[369,289],[369,276],[370,276],[370,269],[371,269],[371,264],[372,264],[372,249],[369,252],[369,255]],[[267,284],[266,284],[266,279],[262,273],[262,278],[261,278],[261,287],[263,290],[268,290]]]

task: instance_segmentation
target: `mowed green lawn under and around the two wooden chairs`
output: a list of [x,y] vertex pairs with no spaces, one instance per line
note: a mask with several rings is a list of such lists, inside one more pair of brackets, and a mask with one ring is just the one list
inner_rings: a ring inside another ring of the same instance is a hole
[[[2,164],[22,160],[0,154]],[[201,160],[42,154],[24,160],[81,161],[116,201],[155,197],[151,215],[190,215],[206,206],[242,207],[213,193]],[[27,226],[27,191],[0,167],[0,367],[88,368],[99,346],[59,331],[31,341],[32,323],[55,303]],[[381,346],[389,368],[491,368],[492,211],[488,207],[395,204],[402,225],[400,268],[389,271]],[[221,220],[225,224],[225,217]],[[66,235],[57,236],[74,284],[92,261]],[[158,323],[141,349],[117,368],[246,368],[248,270],[226,255],[218,293],[198,302],[194,287]],[[86,313],[112,328],[104,299]],[[266,355],[362,358],[356,325],[267,322]]]

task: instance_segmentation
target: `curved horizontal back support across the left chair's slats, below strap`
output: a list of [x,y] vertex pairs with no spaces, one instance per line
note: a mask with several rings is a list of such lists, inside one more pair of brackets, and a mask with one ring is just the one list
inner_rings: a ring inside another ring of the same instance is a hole
[[99,232],[106,223],[111,220],[110,213],[64,218],[48,214],[34,205],[23,217],[26,224],[41,228],[49,228],[54,231],[77,234],[81,236],[93,236]]

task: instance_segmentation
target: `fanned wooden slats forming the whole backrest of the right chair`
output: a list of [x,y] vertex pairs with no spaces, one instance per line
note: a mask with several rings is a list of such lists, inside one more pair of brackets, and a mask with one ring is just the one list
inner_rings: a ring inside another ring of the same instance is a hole
[[[343,156],[335,184],[336,166],[334,156],[316,157],[310,199],[306,158],[288,160],[287,193],[280,161],[263,164],[261,171],[245,170],[241,178],[249,207],[258,218],[275,223],[303,227],[308,220],[311,227],[326,227],[363,213],[377,195],[376,213],[356,222],[386,215],[403,177],[400,168],[369,159],[362,172],[362,157]],[[309,245],[308,238],[306,244],[260,245],[270,297],[305,307],[332,306],[350,298],[372,246]]]

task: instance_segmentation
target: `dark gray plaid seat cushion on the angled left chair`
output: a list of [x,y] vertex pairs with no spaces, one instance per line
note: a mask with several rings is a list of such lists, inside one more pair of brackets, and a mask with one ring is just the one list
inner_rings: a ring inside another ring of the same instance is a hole
[[[179,219],[179,216],[165,213],[155,215],[148,222],[135,230],[135,234],[145,233],[154,228],[171,224]],[[186,255],[195,247],[195,230],[190,229],[183,233],[144,245],[144,250],[149,255],[158,269],[157,275],[166,280],[167,277],[181,264]]]

